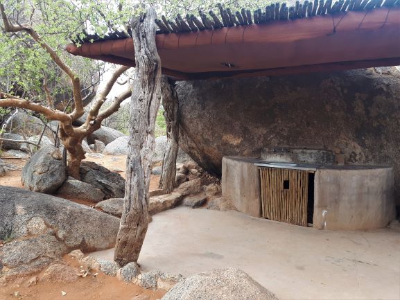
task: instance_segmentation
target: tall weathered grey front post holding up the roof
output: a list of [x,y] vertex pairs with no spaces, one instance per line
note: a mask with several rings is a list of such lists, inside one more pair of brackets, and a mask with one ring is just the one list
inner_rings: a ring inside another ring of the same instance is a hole
[[136,68],[130,100],[130,142],[126,166],[125,200],[114,261],[123,266],[137,261],[148,227],[150,161],[154,126],[161,100],[161,64],[155,44],[155,10],[132,19]]

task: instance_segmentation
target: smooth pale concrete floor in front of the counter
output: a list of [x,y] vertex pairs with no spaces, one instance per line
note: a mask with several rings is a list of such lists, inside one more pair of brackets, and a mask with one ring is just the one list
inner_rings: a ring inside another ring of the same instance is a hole
[[[112,260],[113,249],[94,256]],[[153,216],[139,263],[189,276],[244,270],[279,299],[400,299],[400,232],[319,231],[236,211]]]

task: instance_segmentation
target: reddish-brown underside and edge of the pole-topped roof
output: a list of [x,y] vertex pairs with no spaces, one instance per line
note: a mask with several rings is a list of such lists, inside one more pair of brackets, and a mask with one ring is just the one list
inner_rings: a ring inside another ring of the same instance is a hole
[[[313,15],[309,9],[310,15],[305,10],[304,18],[293,19],[284,19],[283,12],[281,19],[259,24],[214,23],[211,29],[177,33],[160,26],[164,33],[156,42],[163,73],[194,80],[399,65],[400,8],[366,9],[372,1],[365,1],[364,10]],[[67,51],[134,67],[131,37],[70,44]]]

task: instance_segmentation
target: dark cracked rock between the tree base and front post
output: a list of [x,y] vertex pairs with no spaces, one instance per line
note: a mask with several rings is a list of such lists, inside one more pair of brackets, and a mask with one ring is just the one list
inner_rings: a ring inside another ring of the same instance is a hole
[[125,179],[118,173],[111,172],[93,161],[82,161],[80,179],[82,182],[99,188],[107,199],[121,198],[125,195]]

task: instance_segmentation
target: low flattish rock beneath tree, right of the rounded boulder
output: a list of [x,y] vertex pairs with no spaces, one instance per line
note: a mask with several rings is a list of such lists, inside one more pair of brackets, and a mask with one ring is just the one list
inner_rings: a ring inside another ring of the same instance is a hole
[[100,202],[104,199],[105,195],[99,188],[81,182],[73,177],[69,177],[57,192],[59,195],[67,196],[72,199],[82,199],[92,202]]

